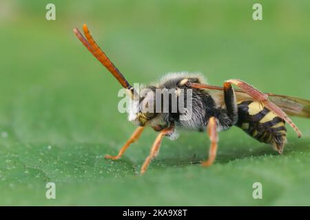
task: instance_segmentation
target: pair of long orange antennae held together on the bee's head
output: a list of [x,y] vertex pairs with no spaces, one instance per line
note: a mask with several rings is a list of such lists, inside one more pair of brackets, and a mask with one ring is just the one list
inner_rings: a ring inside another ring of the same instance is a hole
[[94,41],[92,38],[92,35],[90,34],[90,31],[87,28],[87,25],[83,25],[83,32],[85,34],[86,39],[84,36],[81,34],[81,32],[77,29],[74,28],[74,34],[78,37],[78,39],[87,47],[87,49],[94,55],[97,60],[102,63],[102,65],[107,68],[111,72],[111,74],[118,80],[119,83],[125,88],[125,89],[130,89],[132,92],[132,86],[127,82],[123,74],[114,66],[114,64],[110,61],[110,59],[105,55],[105,53],[101,50],[101,48],[97,45],[97,43]]

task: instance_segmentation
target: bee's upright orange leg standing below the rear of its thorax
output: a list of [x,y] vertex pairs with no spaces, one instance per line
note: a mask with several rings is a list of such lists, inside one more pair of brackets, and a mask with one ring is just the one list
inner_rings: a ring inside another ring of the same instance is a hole
[[209,118],[209,124],[207,127],[207,133],[211,142],[209,148],[209,157],[205,162],[202,162],[202,166],[210,166],[216,159],[216,151],[218,150],[218,131],[216,131],[216,118]]

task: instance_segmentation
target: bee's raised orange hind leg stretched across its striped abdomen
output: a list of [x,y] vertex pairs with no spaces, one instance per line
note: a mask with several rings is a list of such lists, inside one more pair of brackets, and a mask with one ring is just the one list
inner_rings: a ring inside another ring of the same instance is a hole
[[292,120],[289,118],[289,116],[287,116],[287,114],[284,111],[282,111],[282,109],[280,109],[278,106],[276,106],[276,104],[273,104],[273,102],[268,100],[267,94],[263,94],[258,89],[255,89],[251,85],[249,85],[249,84],[247,84],[241,80],[238,80],[238,79],[227,80],[225,83],[234,84],[237,87],[240,87],[243,91],[245,91],[247,94],[249,94],[249,96],[251,96],[255,100],[258,100],[258,101],[264,103],[268,109],[270,109],[271,111],[276,113],[280,118],[285,120],[285,122],[287,122],[296,131],[298,137],[302,136],[302,133],[299,131],[296,124],[294,124],[294,122],[292,122]]

